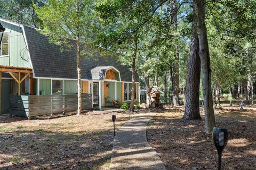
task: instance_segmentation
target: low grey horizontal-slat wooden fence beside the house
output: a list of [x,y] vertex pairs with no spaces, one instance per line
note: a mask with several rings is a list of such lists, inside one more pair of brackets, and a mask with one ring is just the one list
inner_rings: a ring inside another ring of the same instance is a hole
[[[52,115],[55,113],[65,113],[75,111],[77,109],[77,95],[45,95],[45,96],[26,96],[22,105],[21,99],[24,96],[11,95],[10,110],[11,114],[17,115],[16,111],[24,109],[27,111],[26,117],[34,117],[41,115]],[[13,102],[13,99],[15,102]],[[22,100],[23,101],[23,100]],[[20,106],[19,109],[15,105]],[[23,108],[22,108],[23,106]],[[82,109],[92,108],[91,94],[82,94]],[[19,115],[21,116],[21,115]],[[24,116],[24,115],[23,115]]]

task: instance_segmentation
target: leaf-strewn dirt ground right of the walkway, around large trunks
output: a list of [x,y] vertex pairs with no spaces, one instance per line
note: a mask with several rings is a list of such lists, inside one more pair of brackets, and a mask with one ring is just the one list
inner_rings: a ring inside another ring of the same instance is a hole
[[[167,169],[218,169],[212,135],[204,133],[203,120],[183,121],[184,107],[167,108],[148,124],[147,138]],[[215,110],[216,125],[228,129],[222,169],[256,169],[256,111],[246,108]]]

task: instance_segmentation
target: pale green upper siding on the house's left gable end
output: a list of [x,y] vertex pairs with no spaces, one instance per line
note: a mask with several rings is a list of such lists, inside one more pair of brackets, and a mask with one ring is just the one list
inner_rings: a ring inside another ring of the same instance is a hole
[[0,65],[31,67],[29,61],[22,60],[21,58],[21,56],[25,59],[28,58],[28,51],[21,33],[21,28],[4,21],[1,21],[1,23],[6,28],[5,32],[10,31],[10,51],[9,56],[0,57]]

